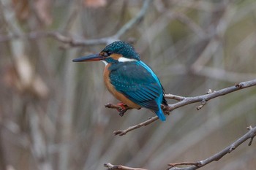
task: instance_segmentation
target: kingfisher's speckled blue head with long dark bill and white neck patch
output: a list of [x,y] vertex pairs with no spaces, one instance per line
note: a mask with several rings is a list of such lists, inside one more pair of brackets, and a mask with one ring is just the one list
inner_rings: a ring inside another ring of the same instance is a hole
[[105,47],[102,52],[76,58],[73,62],[82,61],[103,61],[104,63],[119,63],[127,61],[140,61],[140,56],[136,53],[132,45],[127,42],[113,42]]

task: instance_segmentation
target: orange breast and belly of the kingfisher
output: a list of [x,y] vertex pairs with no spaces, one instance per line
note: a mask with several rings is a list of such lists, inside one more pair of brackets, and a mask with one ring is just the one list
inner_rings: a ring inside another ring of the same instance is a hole
[[115,96],[119,101],[122,101],[124,104],[127,104],[128,107],[139,109],[140,105],[135,104],[133,101],[129,100],[122,93],[118,92],[114,88],[114,86],[111,84],[110,78],[109,78],[110,71],[108,70],[109,66],[110,66],[110,63],[107,66],[105,66],[104,74],[103,74],[104,82],[105,82],[105,85],[108,88],[109,92],[112,93],[113,96]]

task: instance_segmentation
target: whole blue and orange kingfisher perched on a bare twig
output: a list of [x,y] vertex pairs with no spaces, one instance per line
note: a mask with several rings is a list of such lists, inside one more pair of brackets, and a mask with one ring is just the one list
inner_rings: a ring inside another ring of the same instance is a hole
[[127,42],[116,41],[100,53],[83,56],[73,62],[103,61],[103,78],[109,92],[119,101],[122,111],[145,107],[165,121],[161,104],[167,106],[165,90],[152,69],[140,60],[140,55]]

